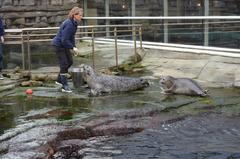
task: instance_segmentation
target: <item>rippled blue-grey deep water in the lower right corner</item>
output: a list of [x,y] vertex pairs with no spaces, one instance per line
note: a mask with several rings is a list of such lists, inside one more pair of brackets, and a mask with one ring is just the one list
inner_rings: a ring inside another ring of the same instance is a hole
[[122,155],[116,159],[166,158],[203,159],[240,157],[240,117],[223,114],[203,114],[155,129],[120,137],[108,144],[117,147]]

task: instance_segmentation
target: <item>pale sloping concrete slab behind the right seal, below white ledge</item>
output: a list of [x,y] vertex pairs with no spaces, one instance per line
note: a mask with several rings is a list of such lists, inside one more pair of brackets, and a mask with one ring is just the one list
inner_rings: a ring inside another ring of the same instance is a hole
[[240,86],[240,58],[147,50],[142,64],[155,77],[188,77],[206,87]]

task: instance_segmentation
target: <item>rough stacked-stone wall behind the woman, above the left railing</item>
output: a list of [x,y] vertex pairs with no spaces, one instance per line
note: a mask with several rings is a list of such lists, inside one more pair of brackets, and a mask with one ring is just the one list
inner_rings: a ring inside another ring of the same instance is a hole
[[5,28],[59,26],[80,0],[1,0]]

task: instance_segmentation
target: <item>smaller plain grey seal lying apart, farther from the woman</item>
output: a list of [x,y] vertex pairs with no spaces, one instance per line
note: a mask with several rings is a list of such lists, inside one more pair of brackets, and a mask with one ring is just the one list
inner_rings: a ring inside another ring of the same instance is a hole
[[207,96],[207,90],[203,90],[199,84],[190,78],[174,78],[164,76],[160,78],[160,84],[165,87],[164,93],[184,94],[191,96]]

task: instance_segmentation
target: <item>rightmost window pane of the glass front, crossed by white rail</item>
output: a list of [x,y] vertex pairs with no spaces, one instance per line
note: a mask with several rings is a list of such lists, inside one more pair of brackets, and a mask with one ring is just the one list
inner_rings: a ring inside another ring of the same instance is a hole
[[[239,16],[239,0],[209,1],[209,15],[211,16]],[[209,45],[240,48],[239,20],[212,20],[209,25]]]

